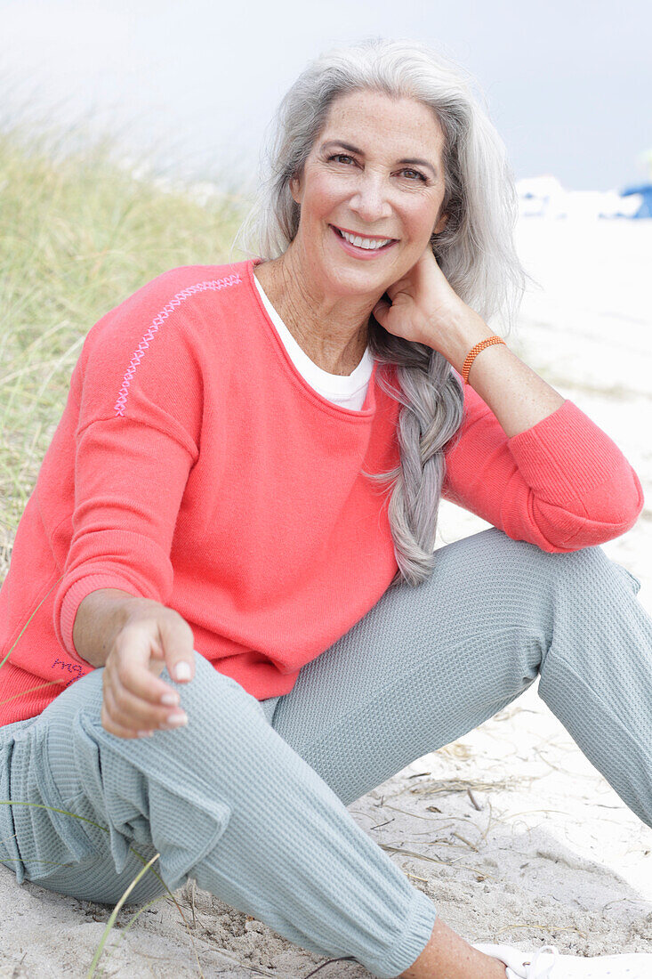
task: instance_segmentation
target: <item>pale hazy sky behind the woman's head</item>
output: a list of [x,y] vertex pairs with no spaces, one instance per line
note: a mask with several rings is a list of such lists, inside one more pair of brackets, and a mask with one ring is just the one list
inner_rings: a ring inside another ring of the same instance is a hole
[[652,178],[649,0],[0,0],[0,36],[0,125],[83,119],[125,155],[231,188],[255,180],[307,63],[369,36],[424,41],[470,72],[517,179]]

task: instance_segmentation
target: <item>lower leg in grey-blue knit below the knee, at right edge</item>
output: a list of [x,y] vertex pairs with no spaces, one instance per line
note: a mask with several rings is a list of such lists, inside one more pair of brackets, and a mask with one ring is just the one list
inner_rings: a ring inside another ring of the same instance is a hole
[[[538,693],[589,762],[652,826],[652,619],[601,547],[558,555]],[[568,559],[571,560],[568,560]]]

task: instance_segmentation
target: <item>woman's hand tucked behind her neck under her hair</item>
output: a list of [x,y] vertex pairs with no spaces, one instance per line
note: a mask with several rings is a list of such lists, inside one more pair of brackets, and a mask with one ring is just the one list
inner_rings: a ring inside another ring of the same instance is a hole
[[468,349],[467,337],[475,338],[483,328],[483,336],[490,335],[482,317],[448,284],[430,245],[387,295],[391,303],[382,299],[373,309],[380,325],[396,337],[439,350],[453,366],[458,351]]

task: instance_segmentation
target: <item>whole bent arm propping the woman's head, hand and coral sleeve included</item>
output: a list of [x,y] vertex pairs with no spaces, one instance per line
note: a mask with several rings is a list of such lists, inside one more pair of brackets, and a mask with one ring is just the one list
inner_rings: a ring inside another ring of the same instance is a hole
[[[438,350],[459,374],[492,330],[456,295],[426,249],[374,314],[396,336]],[[580,550],[620,536],[643,507],[618,446],[512,350],[481,350],[464,387],[465,420],[445,450],[443,495],[517,540]]]

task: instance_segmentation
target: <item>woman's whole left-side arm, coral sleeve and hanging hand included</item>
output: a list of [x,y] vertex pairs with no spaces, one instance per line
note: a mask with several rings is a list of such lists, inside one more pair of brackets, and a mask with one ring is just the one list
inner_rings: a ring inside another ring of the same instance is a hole
[[[164,279],[116,307],[84,345],[72,536],[54,603],[70,656],[105,667],[102,723],[120,737],[168,726],[179,697],[157,676],[163,666],[177,681],[194,676],[192,629],[166,603],[174,528],[199,456],[203,386],[179,314],[157,316],[158,334],[148,329]],[[180,661],[185,676],[175,673]]]

